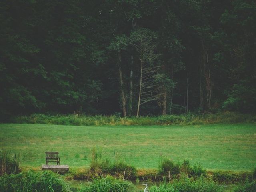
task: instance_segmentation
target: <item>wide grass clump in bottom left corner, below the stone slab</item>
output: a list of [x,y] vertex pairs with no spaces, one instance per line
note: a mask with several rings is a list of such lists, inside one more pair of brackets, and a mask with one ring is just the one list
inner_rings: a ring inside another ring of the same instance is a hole
[[0,177],[1,192],[71,192],[70,185],[58,174],[26,172],[16,175],[4,174]]

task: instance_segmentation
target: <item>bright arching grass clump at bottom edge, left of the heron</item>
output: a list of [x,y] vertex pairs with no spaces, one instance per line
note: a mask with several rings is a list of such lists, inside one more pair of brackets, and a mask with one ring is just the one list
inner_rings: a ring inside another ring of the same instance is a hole
[[96,178],[79,192],[135,192],[135,186],[128,181],[114,179],[111,176]]

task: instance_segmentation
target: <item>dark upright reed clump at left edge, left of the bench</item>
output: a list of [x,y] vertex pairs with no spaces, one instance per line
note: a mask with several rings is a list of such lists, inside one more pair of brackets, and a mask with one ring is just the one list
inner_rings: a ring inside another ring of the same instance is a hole
[[17,154],[12,154],[10,151],[0,150],[0,175],[17,174],[19,169],[20,158]]

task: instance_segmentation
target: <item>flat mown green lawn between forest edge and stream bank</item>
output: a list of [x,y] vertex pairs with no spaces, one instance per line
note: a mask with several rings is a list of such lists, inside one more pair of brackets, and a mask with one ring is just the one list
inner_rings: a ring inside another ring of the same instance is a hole
[[92,148],[102,158],[136,168],[157,168],[161,157],[200,163],[207,170],[252,170],[256,124],[173,126],[60,126],[0,124],[0,148],[20,153],[21,166],[45,164],[45,151],[61,164],[88,166]]

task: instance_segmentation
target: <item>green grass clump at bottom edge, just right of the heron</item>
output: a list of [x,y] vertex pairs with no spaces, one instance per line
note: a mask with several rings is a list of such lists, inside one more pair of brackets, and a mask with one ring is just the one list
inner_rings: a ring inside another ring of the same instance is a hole
[[179,180],[173,180],[169,183],[153,185],[150,192],[221,192],[222,188],[212,180],[200,177],[196,180],[182,176]]

